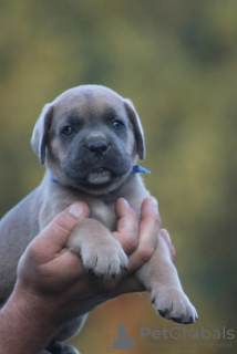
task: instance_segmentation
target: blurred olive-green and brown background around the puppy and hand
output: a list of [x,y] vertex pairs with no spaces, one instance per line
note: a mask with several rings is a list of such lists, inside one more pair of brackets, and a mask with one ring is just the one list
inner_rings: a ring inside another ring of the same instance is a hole
[[196,339],[141,340],[141,327],[184,327],[161,319],[146,294],[121,296],[72,343],[106,353],[103,331],[122,322],[136,345],[120,353],[236,353],[237,1],[1,0],[0,15],[1,215],[43,176],[30,137],[44,103],[80,84],[110,86],[142,118],[145,183],[199,315],[185,327]]

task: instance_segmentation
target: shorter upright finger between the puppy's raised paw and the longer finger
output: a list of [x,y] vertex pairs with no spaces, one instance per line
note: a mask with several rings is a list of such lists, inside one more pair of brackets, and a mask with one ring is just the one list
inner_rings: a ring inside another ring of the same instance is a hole
[[138,246],[138,219],[128,202],[120,198],[115,204],[118,218],[117,231],[113,236],[120,241],[126,254],[131,254]]

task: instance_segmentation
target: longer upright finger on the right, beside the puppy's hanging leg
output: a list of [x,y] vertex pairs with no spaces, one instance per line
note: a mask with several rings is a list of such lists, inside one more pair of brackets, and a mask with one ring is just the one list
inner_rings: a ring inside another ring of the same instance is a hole
[[153,197],[147,197],[142,204],[138,247],[135,252],[128,257],[130,271],[137,270],[153,256],[157,243],[159,226],[161,218],[158,215],[157,201]]

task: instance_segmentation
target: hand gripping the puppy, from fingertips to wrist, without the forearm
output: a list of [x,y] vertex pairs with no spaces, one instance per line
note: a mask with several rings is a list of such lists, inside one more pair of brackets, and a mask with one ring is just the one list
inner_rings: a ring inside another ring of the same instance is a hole
[[31,316],[31,321],[39,321],[40,314],[40,321],[56,329],[107,299],[143,290],[133,272],[155,250],[159,216],[154,198],[144,200],[141,222],[124,199],[116,202],[118,223],[114,237],[122,243],[130,262],[128,271],[116,280],[102,282],[87,274],[81,259],[65,248],[74,227],[89,214],[85,204],[73,204],[54,218],[22,256],[14,294],[20,311]]

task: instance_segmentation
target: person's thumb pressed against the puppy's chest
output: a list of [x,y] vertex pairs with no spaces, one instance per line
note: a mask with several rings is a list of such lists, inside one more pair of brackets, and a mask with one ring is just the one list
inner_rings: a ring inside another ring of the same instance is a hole
[[43,253],[45,258],[59,253],[80,221],[89,217],[90,210],[85,202],[74,202],[60,212],[30,243],[30,249]]

